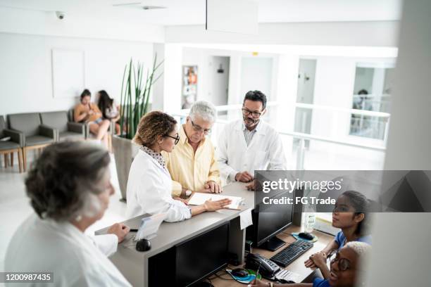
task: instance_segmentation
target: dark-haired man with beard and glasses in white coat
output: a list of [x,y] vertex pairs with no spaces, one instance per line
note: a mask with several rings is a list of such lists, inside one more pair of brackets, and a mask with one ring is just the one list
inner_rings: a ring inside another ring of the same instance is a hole
[[228,123],[218,138],[218,166],[226,183],[249,182],[254,189],[255,170],[286,170],[280,135],[261,120],[266,113],[266,96],[248,91],[242,105],[242,120]]

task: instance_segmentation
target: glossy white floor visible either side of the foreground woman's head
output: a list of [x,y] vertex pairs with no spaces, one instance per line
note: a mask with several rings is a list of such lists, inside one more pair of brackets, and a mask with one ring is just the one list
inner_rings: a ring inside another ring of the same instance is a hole
[[[31,213],[32,208],[25,196],[24,179],[26,174],[18,172],[18,166],[4,168],[3,161],[0,167],[0,272],[4,271],[4,257],[6,248],[15,230]],[[115,187],[115,194],[111,196],[108,210],[99,222],[94,223],[87,233],[107,227],[115,222],[125,220],[125,203],[120,202],[120,189],[118,187],[115,161],[111,155],[111,181]],[[1,283],[0,283],[1,286]]]

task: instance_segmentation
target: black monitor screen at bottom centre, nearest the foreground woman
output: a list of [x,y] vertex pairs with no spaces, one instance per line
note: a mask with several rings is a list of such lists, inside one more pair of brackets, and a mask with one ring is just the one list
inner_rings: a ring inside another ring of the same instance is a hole
[[229,224],[176,246],[176,286],[189,286],[227,265]]

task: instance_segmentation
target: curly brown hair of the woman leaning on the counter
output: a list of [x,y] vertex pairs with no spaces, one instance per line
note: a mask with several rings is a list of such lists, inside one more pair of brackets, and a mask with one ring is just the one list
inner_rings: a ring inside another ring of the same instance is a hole
[[165,136],[173,132],[175,125],[177,125],[177,121],[173,117],[154,110],[141,118],[133,141],[139,146],[150,148],[156,143],[158,136]]

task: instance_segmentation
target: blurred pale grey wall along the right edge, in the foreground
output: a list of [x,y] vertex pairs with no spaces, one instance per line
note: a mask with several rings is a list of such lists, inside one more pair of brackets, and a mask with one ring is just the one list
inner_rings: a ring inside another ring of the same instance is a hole
[[[431,1],[404,1],[385,170],[431,170],[430,15]],[[366,286],[430,286],[430,222],[430,213],[379,215]]]

